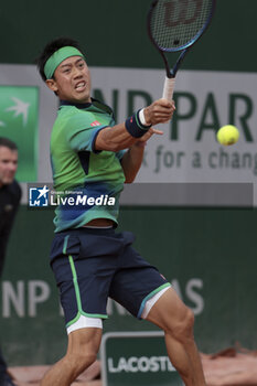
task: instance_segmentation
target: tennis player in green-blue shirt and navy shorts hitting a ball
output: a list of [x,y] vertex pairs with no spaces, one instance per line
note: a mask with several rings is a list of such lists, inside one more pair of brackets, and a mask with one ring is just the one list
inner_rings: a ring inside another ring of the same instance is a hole
[[[51,266],[68,346],[41,386],[68,386],[94,363],[108,297],[136,318],[161,328],[169,357],[184,384],[204,386],[192,311],[158,269],[132,248],[133,235],[115,230],[124,183],[135,180],[144,144],[162,133],[153,126],[172,118],[173,101],[156,100],[116,125],[111,109],[90,97],[90,73],[77,42],[57,39],[49,43],[38,67],[60,99],[51,160],[55,190],[67,199],[56,210]],[[78,195],[85,200],[76,200]],[[76,206],[68,204],[74,200]]]

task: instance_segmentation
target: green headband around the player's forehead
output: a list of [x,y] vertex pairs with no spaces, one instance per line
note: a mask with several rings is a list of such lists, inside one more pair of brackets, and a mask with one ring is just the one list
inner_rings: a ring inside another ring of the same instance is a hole
[[54,75],[55,69],[57,66],[65,61],[65,58],[71,57],[71,56],[82,56],[84,55],[78,51],[76,47],[66,45],[65,47],[62,47],[55,53],[53,53],[52,56],[46,61],[44,65],[44,75],[46,76],[46,79],[51,79],[52,76]]

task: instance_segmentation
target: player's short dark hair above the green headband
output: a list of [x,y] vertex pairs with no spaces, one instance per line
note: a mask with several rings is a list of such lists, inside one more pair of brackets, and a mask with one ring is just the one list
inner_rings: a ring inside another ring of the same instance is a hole
[[46,76],[44,74],[45,63],[47,62],[50,56],[52,56],[55,53],[55,51],[57,51],[66,45],[74,46],[82,52],[77,41],[75,41],[71,37],[58,37],[58,39],[55,39],[52,42],[47,43],[46,46],[44,47],[42,54],[36,58],[38,69],[39,69],[40,75],[44,82],[46,81]]

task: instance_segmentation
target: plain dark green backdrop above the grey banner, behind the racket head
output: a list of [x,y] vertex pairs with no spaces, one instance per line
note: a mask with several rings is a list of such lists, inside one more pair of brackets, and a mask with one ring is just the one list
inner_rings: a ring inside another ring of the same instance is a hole
[[[74,10],[67,0],[4,1],[0,10],[4,35],[0,62],[32,64],[47,41],[72,36],[85,47],[90,66],[160,68],[162,60],[147,36],[150,3],[96,0]],[[212,26],[183,68],[256,72],[256,8],[255,0],[216,0]]]

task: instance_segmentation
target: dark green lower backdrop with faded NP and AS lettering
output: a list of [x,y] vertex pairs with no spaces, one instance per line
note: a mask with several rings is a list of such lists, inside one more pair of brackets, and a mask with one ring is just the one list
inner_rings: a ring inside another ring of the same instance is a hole
[[[195,313],[201,351],[239,342],[257,346],[256,210],[125,207],[119,229],[172,281]],[[66,347],[57,289],[49,268],[50,210],[22,206],[13,229],[1,288],[1,341],[11,364],[52,363]],[[104,331],[146,331],[111,303]],[[24,355],[25,352],[25,355]]]

